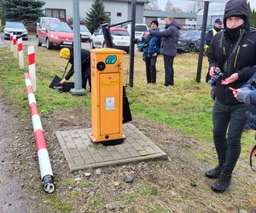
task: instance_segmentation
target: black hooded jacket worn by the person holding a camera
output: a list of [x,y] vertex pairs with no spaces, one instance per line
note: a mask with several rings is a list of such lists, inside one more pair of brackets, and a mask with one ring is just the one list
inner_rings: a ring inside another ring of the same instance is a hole
[[232,74],[238,73],[239,77],[236,82],[228,85],[218,82],[215,90],[218,101],[231,105],[239,104],[239,102],[228,88],[240,88],[256,72],[256,31],[250,29],[246,0],[230,0],[226,4],[224,27],[226,28],[226,19],[228,17],[237,15],[246,17],[244,34],[237,48],[235,49],[239,40],[238,37],[234,41],[230,39],[226,31],[218,32],[212,39],[208,54],[210,66],[218,66],[224,72],[224,78],[229,78]]

